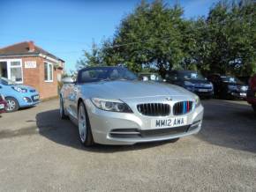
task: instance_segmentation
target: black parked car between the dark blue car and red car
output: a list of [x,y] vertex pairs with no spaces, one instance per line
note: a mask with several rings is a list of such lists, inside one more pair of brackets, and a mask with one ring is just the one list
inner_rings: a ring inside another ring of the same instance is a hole
[[207,77],[215,88],[215,96],[222,99],[245,99],[248,85],[238,78],[232,76],[221,76],[218,74]]

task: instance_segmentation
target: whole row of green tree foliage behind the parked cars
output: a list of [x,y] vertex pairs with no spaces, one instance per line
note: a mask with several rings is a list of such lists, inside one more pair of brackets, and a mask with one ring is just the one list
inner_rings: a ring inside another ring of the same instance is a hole
[[177,4],[162,0],[136,6],[113,38],[85,51],[79,65],[117,65],[129,69],[200,70],[249,76],[256,72],[256,3],[220,1],[207,17],[185,19]]

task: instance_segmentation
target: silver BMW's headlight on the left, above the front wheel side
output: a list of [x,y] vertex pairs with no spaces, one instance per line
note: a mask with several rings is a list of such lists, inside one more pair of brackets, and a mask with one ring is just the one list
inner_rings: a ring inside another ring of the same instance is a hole
[[105,111],[132,113],[132,109],[121,100],[104,100],[100,98],[92,98],[95,107]]

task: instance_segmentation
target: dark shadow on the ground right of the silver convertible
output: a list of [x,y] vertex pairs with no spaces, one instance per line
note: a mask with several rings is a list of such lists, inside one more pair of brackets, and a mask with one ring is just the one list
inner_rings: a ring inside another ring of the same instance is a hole
[[256,152],[256,115],[252,107],[228,100],[209,100],[197,135],[210,144]]

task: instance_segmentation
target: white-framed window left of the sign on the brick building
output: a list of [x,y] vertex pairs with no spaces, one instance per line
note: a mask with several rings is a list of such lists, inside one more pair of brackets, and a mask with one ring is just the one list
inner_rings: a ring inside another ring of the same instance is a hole
[[11,77],[11,80],[16,83],[23,83],[22,65],[20,61],[11,61],[10,77]]

